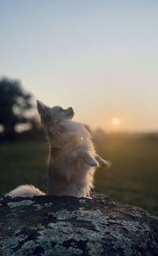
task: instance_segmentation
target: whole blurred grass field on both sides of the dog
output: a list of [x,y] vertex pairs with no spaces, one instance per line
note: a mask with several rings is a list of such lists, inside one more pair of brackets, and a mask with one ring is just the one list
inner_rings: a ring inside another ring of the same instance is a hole
[[[96,149],[112,162],[110,170],[96,171],[96,191],[158,215],[158,140],[110,135]],[[24,183],[46,190],[47,152],[47,141],[1,142],[0,193]]]

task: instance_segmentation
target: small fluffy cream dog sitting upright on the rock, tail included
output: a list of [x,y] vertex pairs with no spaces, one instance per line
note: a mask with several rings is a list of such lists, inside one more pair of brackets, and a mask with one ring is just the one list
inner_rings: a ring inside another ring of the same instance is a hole
[[[37,109],[50,144],[47,194],[88,197],[96,168],[107,166],[108,162],[96,154],[85,126],[72,121],[72,107],[47,107],[37,101]],[[32,185],[18,186],[9,192],[13,197],[43,194]]]

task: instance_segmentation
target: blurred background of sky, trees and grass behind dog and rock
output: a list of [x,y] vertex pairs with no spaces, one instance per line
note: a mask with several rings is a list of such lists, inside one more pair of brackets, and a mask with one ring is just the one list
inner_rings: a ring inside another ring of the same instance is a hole
[[97,191],[157,215],[157,46],[157,1],[0,0],[0,193],[47,189],[39,99],[91,127]]

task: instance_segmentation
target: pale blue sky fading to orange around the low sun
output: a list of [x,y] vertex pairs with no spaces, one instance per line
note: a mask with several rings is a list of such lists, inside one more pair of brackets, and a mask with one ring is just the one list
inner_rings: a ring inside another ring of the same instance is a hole
[[93,129],[156,131],[158,1],[0,0],[2,76]]

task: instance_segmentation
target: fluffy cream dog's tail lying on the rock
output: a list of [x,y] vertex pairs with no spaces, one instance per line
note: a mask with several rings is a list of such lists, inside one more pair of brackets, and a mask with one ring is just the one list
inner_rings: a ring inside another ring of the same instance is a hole
[[15,190],[12,190],[8,193],[10,197],[33,197],[33,196],[40,196],[45,195],[44,192],[37,189],[35,186],[32,185],[22,185],[17,186]]

